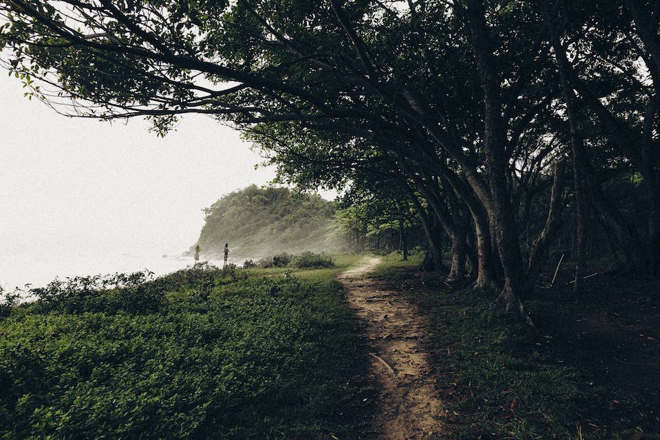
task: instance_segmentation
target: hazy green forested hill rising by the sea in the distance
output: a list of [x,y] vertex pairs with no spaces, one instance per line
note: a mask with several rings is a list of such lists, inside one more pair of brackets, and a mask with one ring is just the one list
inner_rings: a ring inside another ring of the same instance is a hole
[[204,210],[206,223],[197,244],[203,254],[220,254],[228,243],[234,258],[335,251],[338,240],[328,229],[335,208],[317,195],[251,185]]

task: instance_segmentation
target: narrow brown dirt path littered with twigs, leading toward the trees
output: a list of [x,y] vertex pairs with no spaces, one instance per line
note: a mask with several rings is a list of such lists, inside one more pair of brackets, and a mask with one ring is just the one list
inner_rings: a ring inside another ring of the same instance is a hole
[[379,412],[372,434],[382,439],[433,439],[442,427],[442,402],[428,364],[426,332],[414,305],[382,281],[362,277],[380,260],[343,272],[350,307],[362,321],[371,347],[371,375],[378,383]]

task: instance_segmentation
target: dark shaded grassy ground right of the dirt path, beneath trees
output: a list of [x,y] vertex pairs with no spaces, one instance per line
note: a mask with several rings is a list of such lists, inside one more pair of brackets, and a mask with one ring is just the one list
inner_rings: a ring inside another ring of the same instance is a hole
[[[449,290],[411,262],[392,256],[376,275],[425,314],[449,438],[660,439],[653,286],[628,282],[626,292],[607,280],[586,298],[544,291],[529,304],[530,330],[494,312],[494,293]],[[607,314],[616,326],[593,318]],[[616,361],[642,354],[637,366]]]

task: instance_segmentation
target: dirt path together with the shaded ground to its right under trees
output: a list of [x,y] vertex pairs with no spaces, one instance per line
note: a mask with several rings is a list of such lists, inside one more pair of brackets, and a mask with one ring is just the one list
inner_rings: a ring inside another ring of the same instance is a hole
[[378,356],[374,436],[660,439],[659,283],[602,273],[575,295],[562,274],[529,300],[528,328],[493,293],[383,263],[342,281]]

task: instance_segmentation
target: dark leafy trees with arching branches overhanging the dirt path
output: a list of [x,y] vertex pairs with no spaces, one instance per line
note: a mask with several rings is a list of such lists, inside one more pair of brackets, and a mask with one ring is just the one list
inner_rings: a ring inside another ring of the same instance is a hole
[[608,252],[659,275],[657,1],[0,11],[2,62],[28,94],[67,114],[147,116],[161,134],[190,112],[229,121],[283,181],[413,206],[436,265],[440,230],[449,237],[449,279],[496,287],[521,318],[559,239],[576,289],[587,259]]

